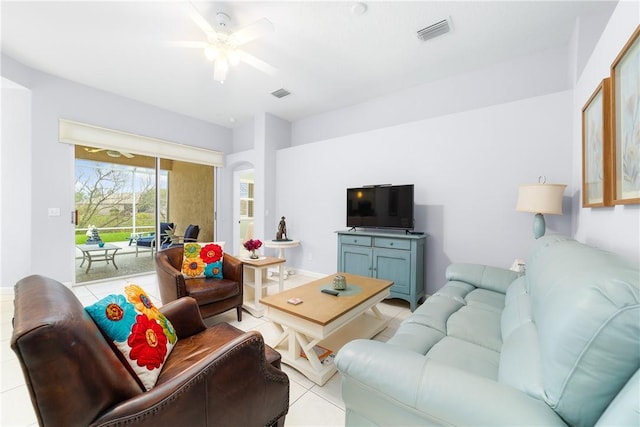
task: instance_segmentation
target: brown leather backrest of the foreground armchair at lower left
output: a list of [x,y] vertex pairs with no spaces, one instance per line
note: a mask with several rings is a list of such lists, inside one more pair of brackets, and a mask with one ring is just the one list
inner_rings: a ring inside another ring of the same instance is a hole
[[11,348],[38,424],[89,425],[106,408],[143,392],[70,289],[29,276],[15,290]]

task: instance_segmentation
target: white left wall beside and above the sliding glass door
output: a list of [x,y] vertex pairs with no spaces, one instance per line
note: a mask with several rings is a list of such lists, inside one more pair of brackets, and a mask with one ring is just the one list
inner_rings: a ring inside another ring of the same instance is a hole
[[[71,282],[75,276],[74,225],[70,220],[75,209],[74,153],[72,146],[58,142],[58,119],[231,152],[232,132],[221,126],[44,74],[4,55],[2,76],[32,92],[32,153],[7,159],[33,171],[29,174],[33,179],[29,251],[12,259],[18,264],[32,260],[31,273],[61,282]],[[61,215],[48,216],[49,208],[59,208]],[[43,245],[52,243],[56,250],[43,255]]]

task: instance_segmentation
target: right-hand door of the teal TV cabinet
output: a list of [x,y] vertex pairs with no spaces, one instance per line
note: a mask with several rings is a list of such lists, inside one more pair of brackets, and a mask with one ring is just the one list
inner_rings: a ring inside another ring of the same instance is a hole
[[374,249],[373,277],[392,280],[393,291],[411,293],[411,252],[396,249]]

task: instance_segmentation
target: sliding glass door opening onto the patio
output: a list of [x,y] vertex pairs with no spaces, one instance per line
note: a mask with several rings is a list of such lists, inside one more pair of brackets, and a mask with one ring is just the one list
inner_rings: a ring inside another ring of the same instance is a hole
[[213,166],[80,145],[75,159],[76,283],[153,272],[189,224],[213,240]]

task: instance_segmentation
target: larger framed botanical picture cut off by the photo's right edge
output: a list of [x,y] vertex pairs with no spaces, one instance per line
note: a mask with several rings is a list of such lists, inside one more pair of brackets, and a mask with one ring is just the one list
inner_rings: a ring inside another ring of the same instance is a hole
[[640,203],[640,25],[611,64],[614,204]]

